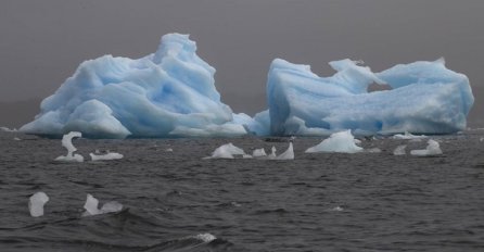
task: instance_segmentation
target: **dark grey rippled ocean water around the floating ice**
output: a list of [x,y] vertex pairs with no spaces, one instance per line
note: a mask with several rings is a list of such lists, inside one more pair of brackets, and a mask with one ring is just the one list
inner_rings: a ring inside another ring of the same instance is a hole
[[[443,155],[395,156],[426,141],[391,138],[306,154],[321,139],[296,138],[292,161],[203,159],[285,138],[75,139],[87,160],[125,158],[59,163],[59,139],[0,133],[0,251],[484,251],[484,130],[433,139]],[[50,201],[34,218],[37,191]],[[87,193],[124,210],[81,217]]]

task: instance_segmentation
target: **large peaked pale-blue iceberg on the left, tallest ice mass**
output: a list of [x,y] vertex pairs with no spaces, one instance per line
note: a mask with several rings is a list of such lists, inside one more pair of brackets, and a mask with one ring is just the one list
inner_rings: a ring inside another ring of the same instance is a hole
[[188,35],[162,37],[141,59],[104,55],[86,61],[21,131],[87,138],[241,136],[231,109],[215,89],[215,68]]

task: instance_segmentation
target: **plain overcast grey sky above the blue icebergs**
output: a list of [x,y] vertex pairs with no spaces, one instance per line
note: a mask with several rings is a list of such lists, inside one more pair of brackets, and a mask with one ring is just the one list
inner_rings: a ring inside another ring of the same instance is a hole
[[2,0],[0,102],[44,98],[82,61],[140,58],[177,32],[217,70],[216,87],[234,112],[266,108],[275,58],[330,75],[327,63],[345,58],[382,71],[445,56],[469,76],[480,109],[483,13],[482,0]]

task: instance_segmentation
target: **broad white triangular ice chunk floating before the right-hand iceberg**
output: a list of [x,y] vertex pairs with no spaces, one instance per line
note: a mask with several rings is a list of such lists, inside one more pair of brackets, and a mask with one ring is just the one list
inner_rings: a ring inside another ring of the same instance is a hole
[[[355,137],[352,131],[345,130],[331,134],[331,136],[322,140],[319,144],[310,147],[305,152],[343,152],[343,153],[356,153],[361,152],[364,149],[356,146]],[[359,141],[359,140],[358,140]]]

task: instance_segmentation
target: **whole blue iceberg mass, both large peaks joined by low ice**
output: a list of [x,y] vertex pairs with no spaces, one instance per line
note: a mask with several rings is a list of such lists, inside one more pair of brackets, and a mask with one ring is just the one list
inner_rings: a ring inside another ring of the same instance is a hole
[[[329,136],[450,134],[466,128],[473,104],[466,75],[443,60],[373,73],[351,60],[333,61],[331,77],[276,59],[267,80],[268,110],[234,114],[220,101],[215,68],[196,54],[188,35],[162,37],[141,59],[104,55],[81,63],[40,104],[21,131],[87,138]],[[368,92],[371,84],[392,90]]]

